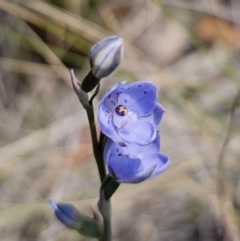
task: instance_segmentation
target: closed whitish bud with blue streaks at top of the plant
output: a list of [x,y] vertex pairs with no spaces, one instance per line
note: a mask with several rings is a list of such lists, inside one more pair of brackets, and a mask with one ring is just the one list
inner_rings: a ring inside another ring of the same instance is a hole
[[123,39],[111,36],[96,43],[89,54],[92,73],[99,79],[110,75],[123,58]]

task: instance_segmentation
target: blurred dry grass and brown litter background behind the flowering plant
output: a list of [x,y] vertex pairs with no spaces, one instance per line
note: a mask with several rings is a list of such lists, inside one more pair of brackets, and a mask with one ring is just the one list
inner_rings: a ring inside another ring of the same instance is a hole
[[169,169],[112,199],[114,241],[240,240],[239,0],[0,0],[0,240],[80,241],[49,198],[97,210],[99,177],[81,80],[88,51],[120,35],[102,80],[150,80]]

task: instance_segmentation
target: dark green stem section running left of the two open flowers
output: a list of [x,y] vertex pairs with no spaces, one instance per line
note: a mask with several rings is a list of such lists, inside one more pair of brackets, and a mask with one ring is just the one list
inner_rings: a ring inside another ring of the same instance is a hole
[[87,117],[88,117],[88,122],[90,126],[91,137],[92,137],[91,139],[92,139],[92,145],[93,145],[93,153],[97,162],[97,167],[98,167],[101,182],[103,182],[103,179],[106,176],[106,170],[105,170],[105,165],[103,161],[101,147],[98,143],[93,106],[90,105],[89,107],[87,107],[86,111],[87,111]]

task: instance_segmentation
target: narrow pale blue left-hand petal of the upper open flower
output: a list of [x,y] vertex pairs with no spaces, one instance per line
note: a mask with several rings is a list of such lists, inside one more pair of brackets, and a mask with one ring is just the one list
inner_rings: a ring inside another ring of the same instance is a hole
[[119,138],[115,126],[112,123],[112,115],[110,111],[103,105],[99,105],[98,110],[98,121],[100,124],[101,131],[109,138],[117,143],[122,143],[123,141]]

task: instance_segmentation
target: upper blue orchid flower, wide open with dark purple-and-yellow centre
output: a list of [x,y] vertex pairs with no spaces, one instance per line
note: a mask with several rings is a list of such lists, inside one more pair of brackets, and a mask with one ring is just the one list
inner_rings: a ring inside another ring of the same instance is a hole
[[156,126],[165,110],[157,102],[157,87],[138,81],[115,84],[99,105],[101,131],[121,146],[148,145],[156,139]]

